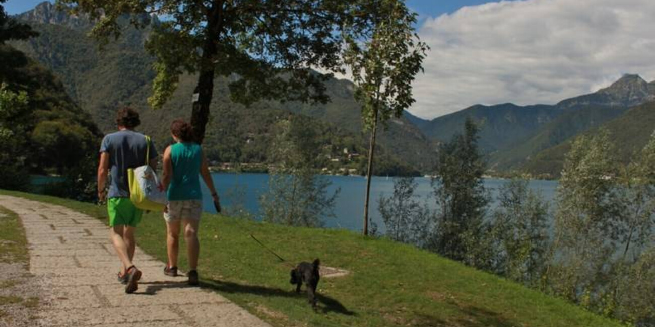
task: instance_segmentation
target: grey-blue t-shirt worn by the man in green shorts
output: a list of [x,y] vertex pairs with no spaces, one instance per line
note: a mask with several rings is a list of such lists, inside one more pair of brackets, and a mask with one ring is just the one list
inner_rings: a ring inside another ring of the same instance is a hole
[[[145,165],[147,143],[145,135],[128,129],[105,135],[100,152],[109,154],[109,192],[107,198],[129,198],[127,169]],[[157,148],[150,144],[149,160],[157,158]]]

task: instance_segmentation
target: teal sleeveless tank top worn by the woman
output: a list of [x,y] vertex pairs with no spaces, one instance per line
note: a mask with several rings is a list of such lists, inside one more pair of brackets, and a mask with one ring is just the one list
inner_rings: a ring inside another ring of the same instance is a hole
[[196,143],[176,143],[170,146],[173,178],[168,186],[169,201],[199,200],[202,150]]

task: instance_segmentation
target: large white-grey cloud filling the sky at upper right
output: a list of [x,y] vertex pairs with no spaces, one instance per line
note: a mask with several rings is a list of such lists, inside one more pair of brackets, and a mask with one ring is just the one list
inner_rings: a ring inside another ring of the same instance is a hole
[[409,110],[434,118],[476,103],[557,103],[624,73],[655,79],[655,1],[525,0],[428,18],[432,50]]

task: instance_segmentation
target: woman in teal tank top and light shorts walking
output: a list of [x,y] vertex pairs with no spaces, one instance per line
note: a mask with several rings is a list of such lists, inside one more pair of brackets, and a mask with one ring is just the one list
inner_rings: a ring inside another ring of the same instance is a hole
[[164,211],[166,220],[166,249],[168,250],[168,264],[164,273],[169,276],[178,275],[178,249],[180,228],[184,230],[189,256],[189,284],[198,284],[198,223],[202,214],[202,194],[200,193],[200,179],[207,184],[214,203],[219,198],[214,188],[214,182],[209,173],[207,159],[202,148],[194,142],[191,124],[181,119],[174,120],[170,131],[176,144],[168,146],[164,152],[164,173],[162,186],[167,190],[168,205]]

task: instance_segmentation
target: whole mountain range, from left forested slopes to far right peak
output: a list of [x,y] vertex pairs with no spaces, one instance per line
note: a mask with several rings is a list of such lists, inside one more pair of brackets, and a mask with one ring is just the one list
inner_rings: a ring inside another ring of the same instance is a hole
[[[176,94],[164,109],[153,111],[145,101],[154,77],[153,59],[143,50],[148,28],[126,27],[121,39],[99,50],[98,44],[86,37],[92,27],[88,20],[60,12],[48,2],[18,18],[29,22],[41,35],[12,45],[51,69],[102,131],[115,128],[113,112],[117,107],[130,105],[140,110],[144,131],[166,143],[170,138],[162,126],[168,126],[173,118],[189,116],[195,76],[180,78]],[[157,24],[156,17],[153,23]],[[309,116],[314,128],[331,135],[324,141],[333,148],[333,155],[342,148],[365,152],[367,135],[362,131],[360,105],[354,101],[352,82],[332,78],[326,87],[331,102],[324,105],[263,101],[244,107],[230,101],[225,81],[217,79],[205,143],[214,150],[213,159],[265,162],[271,128],[288,114]],[[654,100],[655,82],[646,82],[638,75],[624,75],[607,88],[555,105],[473,105],[433,120],[404,112],[380,133],[379,158],[383,167],[405,165],[400,170],[429,172],[434,168],[438,145],[449,141],[461,131],[464,120],[472,117],[481,126],[479,145],[492,171],[524,170],[556,177],[561,169],[562,146],[572,137],[612,124]],[[639,112],[645,114],[644,110]],[[363,167],[363,162],[358,164]]]

